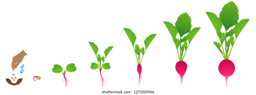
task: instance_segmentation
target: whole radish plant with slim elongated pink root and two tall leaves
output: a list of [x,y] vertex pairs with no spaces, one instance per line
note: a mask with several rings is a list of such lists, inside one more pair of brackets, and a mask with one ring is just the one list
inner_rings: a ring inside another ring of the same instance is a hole
[[[132,32],[132,30],[130,29],[126,29],[124,28],[124,31],[125,33],[127,34],[128,38],[130,39],[131,43],[132,43],[132,46],[133,46],[133,50],[134,50],[134,53],[135,53],[135,56],[136,56],[136,59],[137,59],[137,71],[138,71],[138,74],[139,74],[139,81],[138,81],[138,85],[141,83],[141,71],[142,71],[142,67],[141,67],[141,61],[144,57],[144,54],[145,52],[147,51],[148,49],[148,46],[149,44],[151,43],[151,41],[155,38],[156,34],[151,34],[149,35],[145,40],[144,40],[144,43],[145,43],[145,48],[139,48],[139,45],[136,44],[135,47],[134,47],[134,43],[135,43],[135,40],[136,40],[136,36],[135,34]],[[140,55],[142,53],[142,57],[140,59]]]

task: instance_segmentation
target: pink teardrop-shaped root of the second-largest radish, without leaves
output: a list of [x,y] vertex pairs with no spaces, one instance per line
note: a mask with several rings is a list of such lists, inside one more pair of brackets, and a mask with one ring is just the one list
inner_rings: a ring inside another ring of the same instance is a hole
[[[178,72],[178,74],[180,75],[180,77],[181,77],[181,83],[182,83],[183,76],[184,76],[184,74],[185,74],[185,72],[186,72],[186,70],[187,70],[187,64],[186,64],[186,62],[184,62],[184,61],[179,61],[179,62],[177,62],[176,65],[175,65],[175,69],[176,69],[176,71]],[[181,86],[181,83],[180,83],[180,86]]]

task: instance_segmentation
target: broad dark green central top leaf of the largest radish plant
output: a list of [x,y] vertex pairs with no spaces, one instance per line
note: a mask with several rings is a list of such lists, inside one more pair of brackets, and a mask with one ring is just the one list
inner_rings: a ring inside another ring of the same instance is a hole
[[238,8],[233,1],[225,4],[220,12],[220,20],[227,31],[234,26],[239,19]]

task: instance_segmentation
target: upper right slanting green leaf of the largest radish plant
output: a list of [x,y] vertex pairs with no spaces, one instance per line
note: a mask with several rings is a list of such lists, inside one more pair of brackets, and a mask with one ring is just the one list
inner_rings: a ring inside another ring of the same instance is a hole
[[238,35],[241,33],[241,31],[244,29],[244,26],[247,24],[247,22],[249,21],[249,19],[243,19],[241,21],[239,21],[239,23],[237,23],[234,27],[234,31],[235,31],[235,38],[238,37]]

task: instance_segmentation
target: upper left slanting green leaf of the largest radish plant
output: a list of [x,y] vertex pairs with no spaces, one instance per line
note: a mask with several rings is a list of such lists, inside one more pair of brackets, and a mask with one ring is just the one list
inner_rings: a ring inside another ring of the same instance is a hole
[[222,27],[222,23],[220,18],[217,17],[214,13],[206,12],[207,16],[209,17],[212,25],[214,26],[216,32],[220,32],[220,29]]

